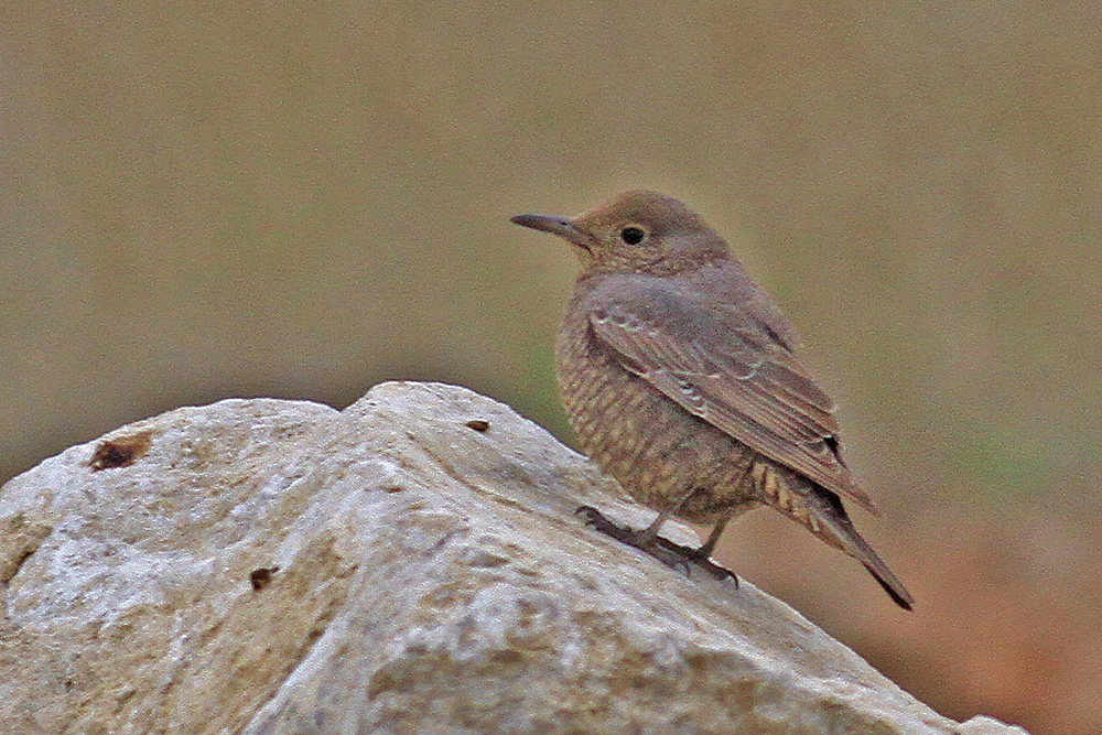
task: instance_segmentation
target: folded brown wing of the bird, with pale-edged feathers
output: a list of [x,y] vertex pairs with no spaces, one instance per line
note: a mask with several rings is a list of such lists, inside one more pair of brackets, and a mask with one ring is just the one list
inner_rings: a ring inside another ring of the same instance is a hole
[[620,364],[683,409],[871,512],[843,464],[834,403],[768,325],[656,280],[587,307]]

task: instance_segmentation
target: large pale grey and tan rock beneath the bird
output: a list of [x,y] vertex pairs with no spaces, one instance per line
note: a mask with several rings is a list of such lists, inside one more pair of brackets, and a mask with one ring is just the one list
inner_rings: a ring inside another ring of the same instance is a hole
[[746,581],[586,529],[582,502],[651,517],[452,386],[123,426],[0,490],[0,729],[1024,732],[941,717]]

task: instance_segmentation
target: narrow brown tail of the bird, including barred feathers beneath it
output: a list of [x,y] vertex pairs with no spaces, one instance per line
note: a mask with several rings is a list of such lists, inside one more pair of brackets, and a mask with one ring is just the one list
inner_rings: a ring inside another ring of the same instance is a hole
[[[778,510],[792,520],[807,527],[829,545],[844,551],[864,564],[869,574],[880,583],[884,591],[899,607],[908,610],[911,608],[915,598],[907,592],[907,587],[903,585],[899,577],[888,569],[884,560],[873,551],[868,542],[853,527],[853,521],[850,520],[850,516],[845,512],[838,495],[803,477],[789,475],[784,479],[777,477],[774,482],[777,482],[774,487],[787,487],[770,493],[774,496],[771,499],[775,500],[770,505],[775,505]],[[768,488],[768,485],[771,484],[767,483],[766,487]]]

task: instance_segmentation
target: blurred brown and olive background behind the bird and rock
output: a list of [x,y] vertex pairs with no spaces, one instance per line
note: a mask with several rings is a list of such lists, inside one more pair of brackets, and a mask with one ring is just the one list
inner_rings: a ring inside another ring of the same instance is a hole
[[727,563],[948,715],[1102,731],[1102,6],[235,4],[0,9],[2,477],[389,378],[569,439],[575,263],[507,218],[648,186],[797,324],[918,605],[776,514]]

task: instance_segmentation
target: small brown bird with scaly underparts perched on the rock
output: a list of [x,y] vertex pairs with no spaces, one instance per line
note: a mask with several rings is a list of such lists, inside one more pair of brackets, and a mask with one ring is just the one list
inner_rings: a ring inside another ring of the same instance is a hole
[[[842,462],[834,403],[796,355],[788,320],[727,244],[683,203],[626,192],[573,219],[519,215],[582,261],[555,346],[582,448],[658,510],[640,531],[591,522],[670,562],[713,571],[726,525],[769,506],[865,565],[898,605],[912,597],[861,538],[842,498],[876,512]],[[695,550],[661,539],[671,516],[712,523]]]

